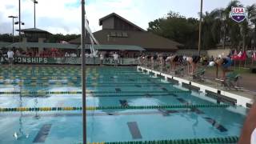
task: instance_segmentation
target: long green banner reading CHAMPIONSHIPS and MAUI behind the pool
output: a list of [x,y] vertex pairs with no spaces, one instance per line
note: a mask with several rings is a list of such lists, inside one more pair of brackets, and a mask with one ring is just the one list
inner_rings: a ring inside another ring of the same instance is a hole
[[[8,58],[0,57],[1,64],[8,64]],[[25,58],[25,57],[16,57],[14,58],[15,64],[70,64],[70,65],[81,65],[82,58],[68,57],[68,58]],[[99,58],[86,58],[86,64],[88,65],[99,65]],[[114,58],[104,58],[104,65],[114,65]],[[119,58],[118,65],[138,65],[137,58]]]

